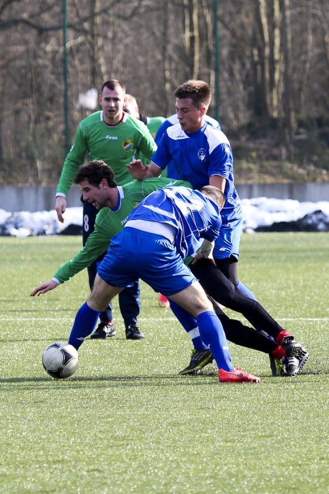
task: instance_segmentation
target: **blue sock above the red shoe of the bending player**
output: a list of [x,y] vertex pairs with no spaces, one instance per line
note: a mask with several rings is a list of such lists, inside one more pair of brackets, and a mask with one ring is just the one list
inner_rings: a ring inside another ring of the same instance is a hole
[[216,360],[218,369],[233,371],[232,358],[222,323],[211,310],[199,314],[196,318],[200,336]]

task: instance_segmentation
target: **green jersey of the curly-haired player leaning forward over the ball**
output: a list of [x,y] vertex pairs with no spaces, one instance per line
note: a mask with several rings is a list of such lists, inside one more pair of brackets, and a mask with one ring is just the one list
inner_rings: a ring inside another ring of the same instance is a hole
[[94,262],[106,252],[111,238],[124,227],[129,214],[147,195],[163,187],[190,187],[190,182],[171,178],[146,178],[133,180],[122,187],[118,186],[118,204],[114,209],[102,208],[95,222],[95,230],[89,235],[86,245],[77,255],[54,274],[61,283],[69,280],[79,271]]

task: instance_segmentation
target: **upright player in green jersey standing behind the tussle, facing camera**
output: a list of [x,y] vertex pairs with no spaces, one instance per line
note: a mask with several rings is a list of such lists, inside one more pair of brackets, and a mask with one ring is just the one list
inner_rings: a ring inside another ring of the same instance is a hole
[[[125,87],[116,80],[104,82],[99,96],[101,111],[83,119],[78,127],[74,142],[66,156],[56,192],[56,212],[60,222],[64,221],[66,194],[70,189],[75,174],[84,162],[101,159],[114,171],[117,184],[122,186],[132,180],[126,164],[141,154],[150,160],[156,150],[156,144],[144,123],[123,112],[125,104]],[[83,202],[83,245],[93,232],[97,210]],[[106,247],[107,249],[107,247]],[[105,250],[106,250],[105,249]],[[105,252],[101,252],[103,254]],[[88,266],[89,286],[92,289],[97,273],[97,263],[102,255]],[[141,339],[144,336],[137,325],[140,309],[139,283],[124,289],[119,296],[120,311],[126,327],[126,338]],[[100,315],[100,324],[94,338],[106,338],[115,335],[112,307]]]

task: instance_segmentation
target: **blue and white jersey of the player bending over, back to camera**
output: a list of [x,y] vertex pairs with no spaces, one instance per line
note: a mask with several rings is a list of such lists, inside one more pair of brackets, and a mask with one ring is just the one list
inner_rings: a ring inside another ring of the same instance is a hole
[[183,259],[197,251],[200,239],[215,240],[222,225],[218,206],[187,187],[166,187],[152,192],[129,215],[127,226],[138,219],[172,227],[175,246]]

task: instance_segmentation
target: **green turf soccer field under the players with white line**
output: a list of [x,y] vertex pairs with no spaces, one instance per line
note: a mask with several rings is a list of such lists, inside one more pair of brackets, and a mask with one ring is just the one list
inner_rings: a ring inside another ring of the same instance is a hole
[[220,385],[214,364],[178,376],[190,340],[145,284],[144,340],[125,340],[115,302],[116,337],[86,340],[76,374],[50,378],[43,350],[67,340],[87,274],[29,294],[81,239],[0,237],[0,493],[328,492],[328,239],[243,235],[241,280],[310,357],[300,375],[273,378],[267,355],[231,344],[233,363],[262,382]]

